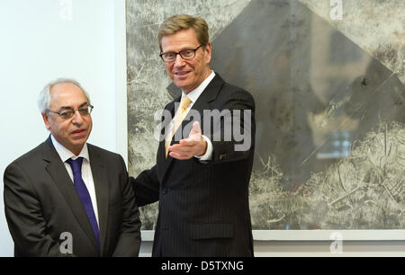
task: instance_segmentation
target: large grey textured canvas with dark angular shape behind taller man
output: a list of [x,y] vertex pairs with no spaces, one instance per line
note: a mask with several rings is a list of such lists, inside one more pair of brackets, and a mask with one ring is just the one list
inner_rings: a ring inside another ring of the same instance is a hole
[[[127,0],[130,175],[155,164],[173,98],[157,28],[199,15],[211,68],[257,104],[254,229],[405,229],[405,4],[361,3]],[[157,205],[141,212],[153,229]]]

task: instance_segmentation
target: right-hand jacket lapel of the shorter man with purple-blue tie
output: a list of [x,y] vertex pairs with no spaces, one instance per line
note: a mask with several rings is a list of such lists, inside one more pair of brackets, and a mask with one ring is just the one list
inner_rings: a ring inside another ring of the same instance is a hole
[[97,198],[100,244],[101,253],[103,255],[104,244],[106,244],[107,237],[108,202],[110,201],[108,171],[94,146],[87,144],[87,148],[90,158],[90,167],[92,168],[95,196]]

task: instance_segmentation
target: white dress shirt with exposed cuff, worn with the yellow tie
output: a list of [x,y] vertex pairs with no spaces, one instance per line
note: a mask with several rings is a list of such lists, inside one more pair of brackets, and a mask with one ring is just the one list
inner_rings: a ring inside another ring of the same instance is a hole
[[[205,80],[202,81],[202,84],[200,84],[198,87],[196,87],[193,91],[191,91],[190,93],[184,93],[182,91],[182,98],[184,95],[187,95],[187,97],[191,100],[191,103],[190,103],[190,105],[188,105],[185,115],[187,115],[187,113],[190,111],[190,109],[192,109],[194,102],[197,101],[197,99],[200,97],[200,95],[205,90],[205,88],[208,86],[208,84],[210,84],[210,82],[214,78],[214,76],[215,76],[214,71],[211,71],[211,75],[209,75],[207,78],[205,78]],[[175,124],[174,120],[170,121],[167,133],[172,133],[174,124]],[[169,135],[167,135],[166,139],[168,137],[169,137]],[[213,151],[211,140],[210,140],[210,138],[205,137],[204,135],[202,135],[202,137],[207,142],[207,150],[205,151],[204,155],[201,155],[201,156],[194,155],[194,157],[198,158],[201,161],[211,160],[212,151]]]

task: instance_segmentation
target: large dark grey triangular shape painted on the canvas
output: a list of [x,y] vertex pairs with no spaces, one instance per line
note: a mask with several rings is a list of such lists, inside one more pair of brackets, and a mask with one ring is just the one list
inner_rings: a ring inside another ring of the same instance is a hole
[[[314,31],[318,25],[320,33]],[[314,45],[314,41],[329,44]],[[311,67],[317,58],[311,50],[317,48],[328,52],[321,68]],[[259,156],[275,155],[286,186],[307,181],[311,173],[335,161],[317,156],[327,155],[334,138],[344,138],[342,133],[348,132],[348,141],[353,142],[380,121],[405,120],[405,89],[397,75],[298,1],[248,4],[212,41],[211,67],[229,83],[253,94],[257,104],[255,168],[262,167]],[[366,69],[348,75],[347,67]],[[311,79],[314,69],[321,72],[317,75],[320,83]],[[323,98],[315,93],[325,90]],[[358,126],[342,131],[347,125],[335,120],[337,126],[323,137],[323,145],[315,145],[308,117],[321,113],[329,114],[332,121],[346,116]]]

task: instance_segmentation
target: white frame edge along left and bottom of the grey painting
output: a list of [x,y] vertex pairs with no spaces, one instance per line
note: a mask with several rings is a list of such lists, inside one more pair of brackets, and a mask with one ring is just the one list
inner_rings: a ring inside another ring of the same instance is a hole
[[[125,0],[114,1],[116,151],[128,165],[127,55]],[[136,175],[131,175],[136,176]],[[141,230],[142,241],[153,241],[154,230]],[[255,241],[397,241],[405,230],[253,230]]]

